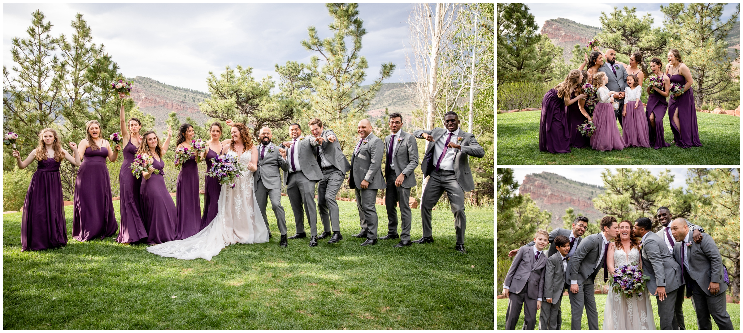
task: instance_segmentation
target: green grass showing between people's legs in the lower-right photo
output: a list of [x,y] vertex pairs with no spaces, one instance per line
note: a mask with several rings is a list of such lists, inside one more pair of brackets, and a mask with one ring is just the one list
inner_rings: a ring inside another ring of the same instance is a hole
[[[653,317],[655,318],[655,329],[661,329],[660,323],[658,323],[658,306],[655,297],[650,297],[653,309]],[[596,295],[596,311],[599,313],[599,329],[603,328],[603,312],[604,304],[606,304],[606,294]],[[506,309],[508,307],[507,299],[498,300],[498,327],[497,329],[505,329],[506,325]],[[562,310],[562,327],[560,329],[570,329],[570,300],[567,296],[562,296],[560,303],[560,310]],[[727,303],[727,313],[730,314],[730,320],[733,322],[735,329],[740,329],[741,323],[741,308],[740,304]],[[539,311],[536,311],[537,322],[539,321]],[[522,329],[524,325],[524,310],[522,309],[521,317],[519,322],[516,323],[516,329]],[[697,329],[696,323],[696,312],[692,306],[692,300],[687,298],[684,300],[684,325],[687,329]],[[539,329],[539,323],[534,329]],[[588,329],[588,317],[585,315],[585,309],[583,311],[583,320],[580,323],[580,329]],[[715,320],[712,321],[712,329],[718,329]]]

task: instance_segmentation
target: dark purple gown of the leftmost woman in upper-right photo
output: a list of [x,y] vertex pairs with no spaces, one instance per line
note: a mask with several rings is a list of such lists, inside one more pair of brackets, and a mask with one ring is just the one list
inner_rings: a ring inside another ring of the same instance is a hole
[[539,151],[570,153],[570,129],[565,113],[565,100],[550,89],[542,99],[542,116],[539,119]]

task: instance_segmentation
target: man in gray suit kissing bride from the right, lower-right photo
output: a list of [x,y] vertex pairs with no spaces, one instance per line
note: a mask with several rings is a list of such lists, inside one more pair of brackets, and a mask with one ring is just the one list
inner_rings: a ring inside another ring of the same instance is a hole
[[[681,269],[668,251],[663,239],[652,229],[652,222],[647,217],[640,217],[635,221],[635,237],[642,237],[640,257],[643,260],[643,274],[650,277],[647,288],[658,300],[658,318],[661,329],[676,329],[678,323],[675,316],[676,297],[681,290]],[[707,238],[707,237],[705,237]]]

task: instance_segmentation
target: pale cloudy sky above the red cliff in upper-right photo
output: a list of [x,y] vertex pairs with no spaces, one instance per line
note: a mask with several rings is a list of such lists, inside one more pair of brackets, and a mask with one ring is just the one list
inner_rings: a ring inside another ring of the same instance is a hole
[[[664,6],[667,4],[663,4]],[[601,27],[599,18],[601,12],[609,13],[614,11],[614,7],[623,8],[635,7],[637,8],[637,16],[645,16],[646,13],[650,13],[654,19],[653,27],[661,27],[663,25],[663,13],[661,12],[661,3],[658,4],[635,4],[635,3],[594,3],[588,6],[585,2],[574,3],[574,4],[531,4],[527,3],[529,12],[534,16],[534,20],[539,29],[545,25],[545,21],[548,19],[557,19],[562,17],[563,19],[570,19],[581,24],[591,25],[593,27]],[[736,4],[725,5],[725,10],[722,15],[724,19],[729,19],[730,15],[735,13]]]

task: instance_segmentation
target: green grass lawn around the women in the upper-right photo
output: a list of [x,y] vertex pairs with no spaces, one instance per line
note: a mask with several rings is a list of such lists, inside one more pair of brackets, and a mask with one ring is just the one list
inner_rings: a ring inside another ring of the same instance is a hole
[[[713,113],[697,114],[702,147],[653,149],[630,147],[622,151],[571,148],[570,153],[539,151],[541,111],[497,115],[498,164],[625,164],[625,165],[738,165],[740,163],[740,118]],[[673,140],[668,116],[663,118],[666,142]],[[621,129],[620,129],[621,133]]]

